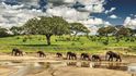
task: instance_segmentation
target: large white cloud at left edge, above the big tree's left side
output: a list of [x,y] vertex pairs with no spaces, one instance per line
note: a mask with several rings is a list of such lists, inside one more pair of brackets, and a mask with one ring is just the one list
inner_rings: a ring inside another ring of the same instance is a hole
[[0,26],[2,27],[11,27],[11,26],[20,26],[23,25],[27,20],[46,15],[41,10],[29,10],[22,9],[22,4],[20,5],[8,5],[5,3],[0,3]]

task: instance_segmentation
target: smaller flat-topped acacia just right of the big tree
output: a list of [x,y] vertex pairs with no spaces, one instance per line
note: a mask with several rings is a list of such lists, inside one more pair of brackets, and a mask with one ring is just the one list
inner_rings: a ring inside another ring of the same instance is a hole
[[70,30],[73,34],[73,39],[72,40],[75,40],[78,33],[86,33],[86,34],[90,33],[90,30],[84,25],[82,25],[81,23],[70,23]]

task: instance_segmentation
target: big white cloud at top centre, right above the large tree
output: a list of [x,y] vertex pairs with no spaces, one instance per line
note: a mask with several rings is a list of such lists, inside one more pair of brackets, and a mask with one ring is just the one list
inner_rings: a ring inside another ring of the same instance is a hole
[[[53,4],[47,9],[47,14],[63,16],[68,22],[84,21],[89,18],[90,13],[104,11],[104,0],[49,0],[49,3]],[[79,4],[83,7],[78,7]]]

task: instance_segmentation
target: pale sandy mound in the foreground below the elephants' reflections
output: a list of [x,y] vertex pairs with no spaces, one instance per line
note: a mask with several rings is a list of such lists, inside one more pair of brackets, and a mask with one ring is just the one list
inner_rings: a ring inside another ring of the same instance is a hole
[[43,71],[37,74],[30,74],[26,76],[129,76],[127,72],[112,71],[103,68],[87,68],[87,67],[60,67],[54,69],[54,73],[49,71]]

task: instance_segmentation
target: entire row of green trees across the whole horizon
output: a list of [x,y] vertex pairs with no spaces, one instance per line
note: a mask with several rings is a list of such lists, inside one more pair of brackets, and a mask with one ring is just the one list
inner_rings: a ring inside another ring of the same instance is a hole
[[[8,31],[11,31],[9,34]],[[89,36],[90,30],[81,23],[68,23],[63,17],[59,16],[38,16],[29,20],[22,26],[12,26],[10,29],[0,27],[0,37],[7,36],[18,36],[18,35],[44,35],[47,41],[47,45],[50,45],[50,37],[53,35],[63,36],[63,35],[72,35],[72,40],[76,39],[76,36],[81,33],[86,34],[89,39],[94,39]],[[115,37],[116,42],[120,42],[122,38],[127,40],[133,40],[135,37],[136,29],[126,28],[124,26],[107,26],[100,27],[95,36],[99,37],[99,40],[102,40],[103,37],[104,45],[109,45],[110,36]]]

